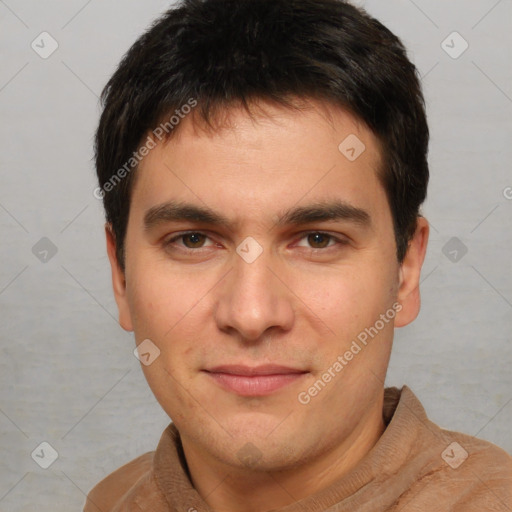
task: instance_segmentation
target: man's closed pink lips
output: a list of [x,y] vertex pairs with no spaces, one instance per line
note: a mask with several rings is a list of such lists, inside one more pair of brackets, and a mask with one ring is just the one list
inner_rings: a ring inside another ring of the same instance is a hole
[[269,395],[297,382],[309,373],[306,370],[280,365],[224,365],[203,372],[223,389],[240,396]]

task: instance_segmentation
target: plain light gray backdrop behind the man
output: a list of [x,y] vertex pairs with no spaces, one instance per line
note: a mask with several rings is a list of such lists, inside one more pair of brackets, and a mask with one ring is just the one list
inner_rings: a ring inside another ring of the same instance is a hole
[[[423,307],[396,331],[387,384],[512,452],[512,2],[358,3],[409,48],[432,132]],[[0,1],[1,511],[81,510],[169,421],[117,324],[91,144],[103,85],[168,6]],[[50,48],[43,31],[59,45],[46,59],[31,47]],[[453,31],[458,58],[441,45]],[[43,441],[48,469],[31,458]]]

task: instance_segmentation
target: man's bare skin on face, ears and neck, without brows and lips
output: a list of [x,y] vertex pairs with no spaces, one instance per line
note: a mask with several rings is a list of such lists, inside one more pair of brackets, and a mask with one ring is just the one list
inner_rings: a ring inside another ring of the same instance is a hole
[[[377,178],[378,140],[349,113],[331,106],[328,116],[325,104],[309,105],[297,112],[265,104],[266,114],[253,120],[233,107],[215,130],[188,116],[137,170],[125,272],[106,229],[120,324],[137,344],[149,338],[160,349],[142,368],[180,431],[194,486],[216,511],[283,507],[354,468],[385,429],[393,329],[419,312],[427,221],[418,218],[399,265]],[[353,162],[338,150],[350,134],[366,146]],[[347,220],[275,225],[288,208],[330,199],[366,210],[371,227]],[[148,209],[169,200],[208,206],[236,224],[161,222],[145,230]],[[165,244],[189,230],[207,236]],[[308,237],[318,231],[347,243]],[[263,248],[253,263],[236,252],[248,236]],[[395,302],[401,310],[394,321],[300,403],[298,394]],[[201,371],[228,363],[308,373],[270,395],[242,397]],[[260,456],[253,464],[240,457],[248,442]]]

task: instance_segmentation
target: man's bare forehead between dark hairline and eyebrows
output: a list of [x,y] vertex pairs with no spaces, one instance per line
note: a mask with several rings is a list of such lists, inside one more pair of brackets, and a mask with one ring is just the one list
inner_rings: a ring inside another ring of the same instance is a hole
[[139,165],[132,207],[144,216],[178,199],[275,221],[287,206],[342,199],[376,214],[387,206],[381,160],[364,123],[322,103],[233,107],[211,126],[191,114]]

